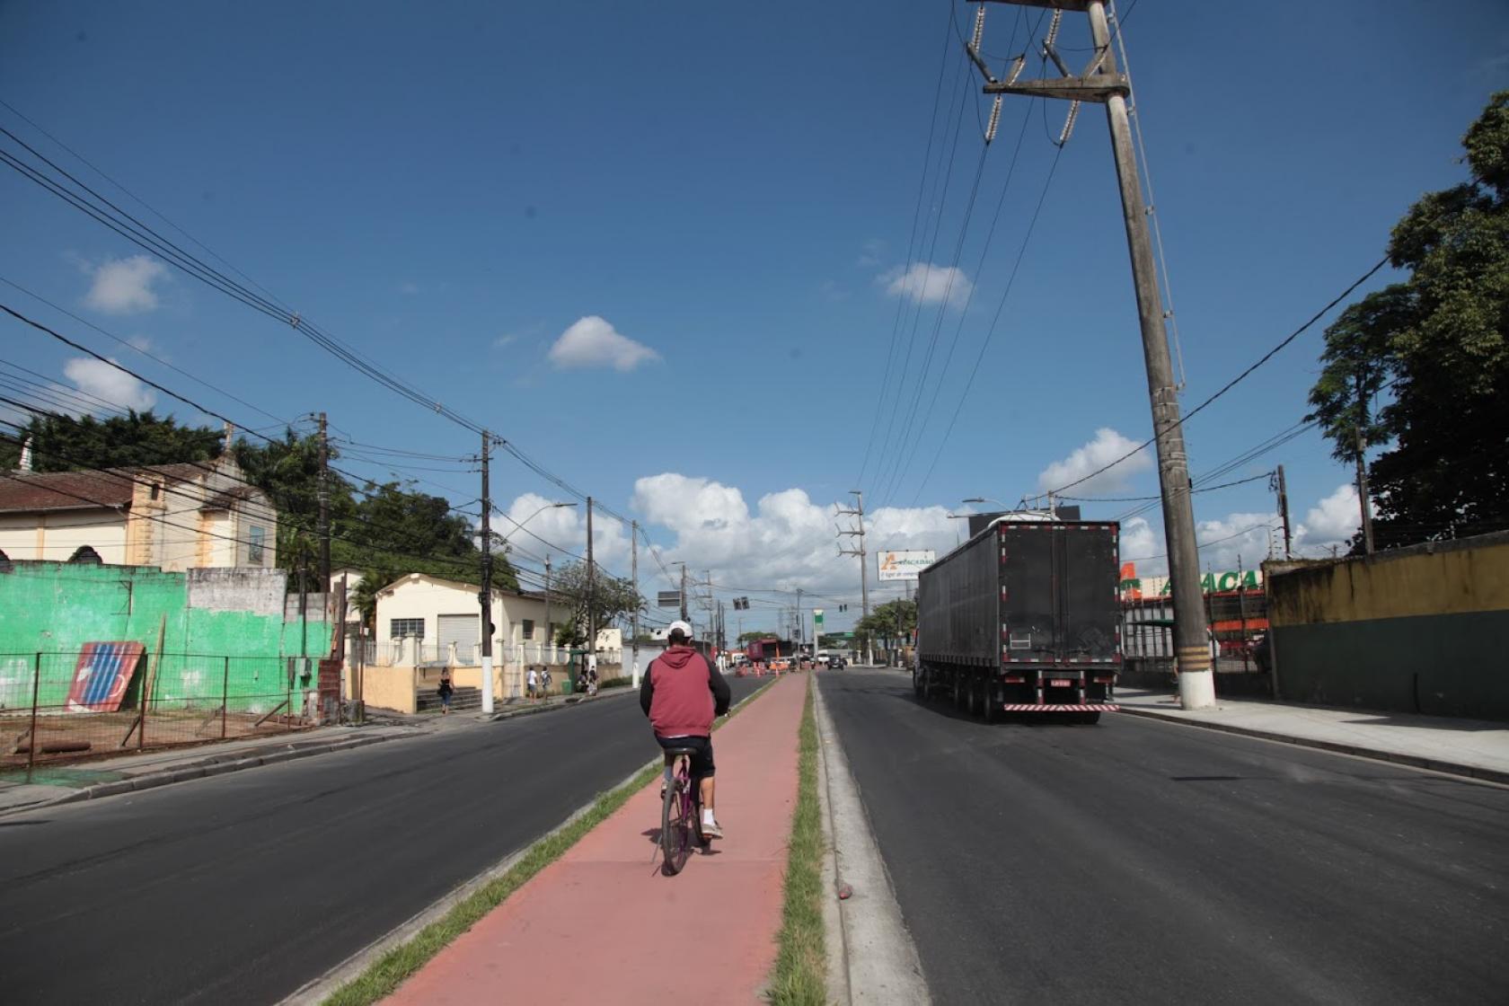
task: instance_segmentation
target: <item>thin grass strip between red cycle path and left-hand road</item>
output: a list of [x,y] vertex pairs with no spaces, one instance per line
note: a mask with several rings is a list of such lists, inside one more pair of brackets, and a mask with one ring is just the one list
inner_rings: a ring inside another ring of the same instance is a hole
[[[751,701],[765,694],[765,691],[774,685],[771,680],[767,685],[754,689],[748,697],[741,701],[723,722],[712,724],[717,730],[727,724],[729,719],[739,715],[748,707]],[[807,692],[807,709],[803,713],[803,730],[809,727],[812,721],[812,694],[810,682]],[[806,735],[803,735],[806,736]],[[816,753],[816,730],[813,728],[812,750]],[[806,741],[803,741],[806,745]],[[803,757],[806,759],[806,747],[803,747]],[[813,784],[812,784],[812,799],[816,804],[816,763],[813,762]],[[575,820],[566,824],[564,827],[552,831],[539,842],[536,842],[530,849],[515,863],[507,873],[493,878],[487,884],[483,884],[475,891],[468,894],[463,900],[457,902],[454,908],[445,912],[444,917],[432,922],[429,926],[415,934],[410,940],[392,947],[374,962],[367,965],[361,974],[330,992],[321,1006],[370,1006],[377,1000],[391,995],[403,982],[418,971],[421,967],[429,964],[430,958],[444,950],[451,944],[459,935],[471,929],[474,925],[481,922],[481,919],[490,912],[493,908],[501,905],[513,891],[524,887],[530,878],[543,870],[546,866],[561,858],[567,849],[576,845],[582,836],[601,825],[613,811],[629,801],[629,796],[641,790],[661,774],[661,766],[647,765],[640,769],[634,778],[628,783],[620,784],[617,789],[611,789],[607,793],[598,796],[587,813],[581,814]],[[813,819],[816,819],[816,811],[813,811]],[[821,839],[821,828],[819,828]],[[818,926],[818,938],[821,940],[821,920]],[[821,967],[821,956],[819,956]],[[821,974],[821,971],[819,971]],[[797,1000],[792,1000],[797,1001]],[[803,1000],[804,1001],[804,1000]],[[821,1001],[821,1000],[813,1000]]]

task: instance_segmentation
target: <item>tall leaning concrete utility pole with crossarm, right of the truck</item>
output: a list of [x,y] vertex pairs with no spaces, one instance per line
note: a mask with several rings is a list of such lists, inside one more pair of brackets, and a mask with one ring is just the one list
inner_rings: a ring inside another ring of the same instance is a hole
[[[1153,240],[1148,234],[1148,210],[1142,202],[1132,127],[1127,119],[1127,95],[1132,86],[1117,69],[1111,48],[1111,29],[1103,0],[994,0],[1029,8],[1053,8],[1053,24],[1043,44],[1044,59],[1050,59],[1062,74],[1056,80],[1017,80],[1023,60],[1013,66],[1008,80],[994,80],[984,68],[978,42],[969,45],[970,57],[985,74],[985,94],[1019,94],[1041,98],[1065,98],[1076,103],[1059,142],[1067,139],[1080,101],[1106,106],[1111,125],[1111,149],[1115,155],[1117,179],[1121,187],[1121,217],[1132,253],[1132,281],[1136,290],[1138,320],[1142,327],[1142,359],[1147,367],[1147,391],[1153,407],[1153,436],[1157,443],[1159,489],[1163,496],[1163,535],[1168,544],[1168,575],[1174,602],[1174,653],[1179,662],[1179,701],[1185,709],[1215,706],[1215,677],[1210,670],[1210,647],[1204,638],[1200,594],[1200,552],[1195,543],[1195,510],[1189,498],[1189,455],[1179,418],[1179,391],[1174,365],[1168,353],[1163,327],[1163,299],[1157,288],[1153,262]],[[1082,11],[1089,20],[1093,51],[1085,69],[1068,72],[1053,47],[1058,23],[1064,11]],[[979,38],[976,29],[975,38]]]

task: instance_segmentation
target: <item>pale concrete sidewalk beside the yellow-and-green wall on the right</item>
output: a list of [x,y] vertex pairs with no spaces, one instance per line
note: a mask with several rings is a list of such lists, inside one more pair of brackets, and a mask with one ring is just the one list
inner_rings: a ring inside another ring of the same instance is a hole
[[1185,712],[1169,692],[1118,688],[1121,712],[1509,783],[1509,724],[1218,698]]

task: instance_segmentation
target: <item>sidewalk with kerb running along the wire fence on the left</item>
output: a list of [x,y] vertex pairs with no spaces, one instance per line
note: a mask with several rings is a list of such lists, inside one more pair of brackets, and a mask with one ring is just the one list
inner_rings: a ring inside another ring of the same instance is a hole
[[39,765],[30,780],[24,769],[0,775],[0,816],[237,772],[327,751],[349,751],[420,733],[423,730],[415,727],[314,727],[281,738],[247,738],[89,762]]

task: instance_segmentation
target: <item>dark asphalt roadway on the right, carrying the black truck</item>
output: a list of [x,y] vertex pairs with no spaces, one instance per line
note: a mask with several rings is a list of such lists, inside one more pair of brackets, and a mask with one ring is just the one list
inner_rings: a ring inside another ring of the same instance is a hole
[[940,1006],[1509,997],[1509,787],[818,680]]

